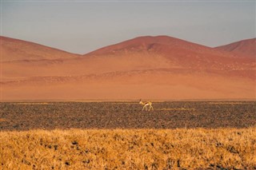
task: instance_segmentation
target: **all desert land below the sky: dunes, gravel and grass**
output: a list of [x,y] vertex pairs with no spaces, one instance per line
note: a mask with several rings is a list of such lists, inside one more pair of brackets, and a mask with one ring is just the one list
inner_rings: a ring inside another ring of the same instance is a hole
[[75,54],[1,37],[0,168],[255,169],[255,65],[255,38]]

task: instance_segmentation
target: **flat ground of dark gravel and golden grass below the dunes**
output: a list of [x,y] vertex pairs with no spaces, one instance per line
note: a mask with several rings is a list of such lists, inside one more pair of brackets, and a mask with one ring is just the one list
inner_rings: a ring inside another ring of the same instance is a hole
[[6,102],[0,169],[255,169],[255,101]]

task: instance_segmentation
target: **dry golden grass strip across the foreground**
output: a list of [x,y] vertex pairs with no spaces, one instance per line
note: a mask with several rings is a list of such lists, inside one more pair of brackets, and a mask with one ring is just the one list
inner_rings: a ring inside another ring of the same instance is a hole
[[0,132],[0,169],[256,168],[256,128]]

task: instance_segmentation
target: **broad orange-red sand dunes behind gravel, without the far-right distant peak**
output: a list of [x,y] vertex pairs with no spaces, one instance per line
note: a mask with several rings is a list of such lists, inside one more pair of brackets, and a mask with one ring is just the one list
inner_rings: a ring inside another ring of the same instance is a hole
[[178,38],[134,38],[83,56],[2,39],[2,101],[255,99],[254,58]]

